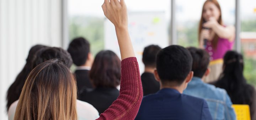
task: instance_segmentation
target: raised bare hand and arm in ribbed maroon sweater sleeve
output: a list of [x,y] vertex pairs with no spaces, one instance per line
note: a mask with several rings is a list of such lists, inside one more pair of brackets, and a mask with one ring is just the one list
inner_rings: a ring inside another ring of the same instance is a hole
[[124,0],[105,0],[102,9],[115,26],[122,61],[119,96],[98,119],[133,120],[138,113],[143,90],[138,62],[128,33],[126,4]]

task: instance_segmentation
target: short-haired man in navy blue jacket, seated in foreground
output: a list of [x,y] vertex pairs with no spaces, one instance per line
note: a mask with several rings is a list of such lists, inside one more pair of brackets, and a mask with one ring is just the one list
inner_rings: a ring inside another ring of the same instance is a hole
[[160,50],[154,71],[160,90],[143,97],[135,120],[212,120],[205,100],[182,94],[193,77],[191,68],[186,48],[172,45]]

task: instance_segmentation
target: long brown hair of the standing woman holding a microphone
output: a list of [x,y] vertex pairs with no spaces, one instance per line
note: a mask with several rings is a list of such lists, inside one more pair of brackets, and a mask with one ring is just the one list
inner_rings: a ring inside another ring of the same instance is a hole
[[[219,23],[220,25],[223,25],[223,22],[222,22],[222,13],[221,13],[221,9],[220,9],[219,2],[218,2],[217,0],[206,0],[206,1],[204,2],[204,4],[203,4],[203,8],[204,8],[204,5],[205,5],[207,2],[212,2],[214,5],[217,6],[217,8],[218,8],[219,11],[220,11],[220,17],[219,17],[219,19],[218,19],[217,21],[218,21],[218,23]],[[199,22],[198,41],[199,41],[199,39],[200,39],[201,30],[203,29],[203,23],[206,22],[206,20],[204,20],[204,18],[203,18],[203,10],[204,10],[203,8],[202,8],[201,19],[200,19],[200,22]],[[213,46],[214,49],[217,48],[218,39],[219,39],[219,36],[218,36],[217,34],[215,34],[214,37],[213,37],[213,41],[212,41],[212,46]]]

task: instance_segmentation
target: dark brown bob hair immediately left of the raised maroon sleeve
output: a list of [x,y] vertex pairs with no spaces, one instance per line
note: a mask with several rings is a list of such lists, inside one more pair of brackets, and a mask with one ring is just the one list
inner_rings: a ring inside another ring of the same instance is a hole
[[100,51],[94,59],[89,76],[96,87],[116,87],[121,79],[120,59],[110,50]]

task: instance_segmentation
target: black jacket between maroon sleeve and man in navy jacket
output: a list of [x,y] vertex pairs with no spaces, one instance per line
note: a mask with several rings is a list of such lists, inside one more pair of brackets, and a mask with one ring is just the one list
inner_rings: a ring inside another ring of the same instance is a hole
[[154,94],[160,90],[160,84],[155,80],[153,73],[144,72],[141,76],[143,96]]

